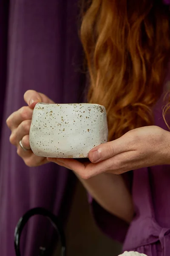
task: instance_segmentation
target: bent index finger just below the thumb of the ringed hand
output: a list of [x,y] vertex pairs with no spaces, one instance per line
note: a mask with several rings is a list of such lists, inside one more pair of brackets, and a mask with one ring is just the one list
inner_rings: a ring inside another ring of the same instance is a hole
[[21,122],[27,119],[32,119],[33,110],[28,106],[20,108],[18,111],[12,113],[6,120],[8,128],[12,131],[14,128],[17,128]]

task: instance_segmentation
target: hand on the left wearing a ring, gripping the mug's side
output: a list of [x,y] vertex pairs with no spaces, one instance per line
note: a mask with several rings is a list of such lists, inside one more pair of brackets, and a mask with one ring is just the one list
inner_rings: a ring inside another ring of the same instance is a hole
[[[42,93],[37,93],[34,90],[28,90],[24,94],[24,100],[28,106],[23,106],[19,110],[12,113],[6,123],[11,130],[9,138],[10,143],[17,147],[17,154],[24,160],[25,164],[29,167],[40,166],[48,163],[46,157],[36,156],[30,148],[29,144],[29,130],[31,126],[31,119],[33,109],[38,102],[54,103],[51,99]],[[20,146],[20,141],[23,148]]]

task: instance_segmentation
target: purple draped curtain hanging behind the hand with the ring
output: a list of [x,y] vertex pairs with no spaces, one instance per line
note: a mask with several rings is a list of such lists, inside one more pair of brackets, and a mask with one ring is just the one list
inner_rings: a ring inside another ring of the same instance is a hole
[[[0,256],[15,255],[14,228],[28,209],[45,207],[67,217],[75,176],[52,163],[27,167],[9,143],[6,118],[25,105],[28,89],[55,102],[82,101],[77,6],[77,0],[0,1]],[[56,242],[54,235],[48,221],[32,218],[21,256],[37,256],[40,246]]]

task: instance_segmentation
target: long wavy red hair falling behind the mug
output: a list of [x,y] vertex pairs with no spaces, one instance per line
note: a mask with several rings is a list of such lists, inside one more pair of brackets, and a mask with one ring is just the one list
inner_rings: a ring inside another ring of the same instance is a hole
[[81,41],[88,101],[104,105],[109,140],[153,124],[170,53],[170,11],[161,0],[90,0]]

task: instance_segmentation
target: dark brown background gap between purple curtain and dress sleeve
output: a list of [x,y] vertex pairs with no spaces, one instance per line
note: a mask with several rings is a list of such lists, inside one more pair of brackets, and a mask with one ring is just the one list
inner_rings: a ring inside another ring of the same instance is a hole
[[[118,256],[121,253],[121,245],[96,227],[86,191],[80,183],[77,183],[65,233],[68,256]],[[58,255],[58,252],[54,254]]]

